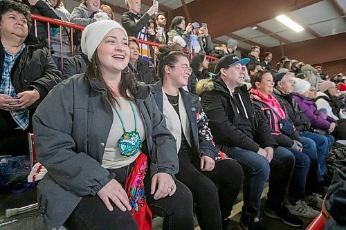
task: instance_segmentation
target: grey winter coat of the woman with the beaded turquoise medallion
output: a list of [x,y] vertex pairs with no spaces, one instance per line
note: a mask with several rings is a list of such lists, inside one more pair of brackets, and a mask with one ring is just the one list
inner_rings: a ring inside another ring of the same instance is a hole
[[[129,90],[145,127],[142,150],[152,175],[174,176],[179,170],[175,139],[165,128],[149,86],[134,84]],[[112,121],[106,90],[84,74],[58,84],[37,108],[37,160],[48,170],[37,187],[37,200],[47,229],[59,229],[85,195],[96,195],[114,178],[101,166]]]

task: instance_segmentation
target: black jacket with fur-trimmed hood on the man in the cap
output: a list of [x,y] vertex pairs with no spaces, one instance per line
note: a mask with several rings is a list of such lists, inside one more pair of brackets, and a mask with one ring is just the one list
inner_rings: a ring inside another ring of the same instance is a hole
[[[271,128],[265,122],[266,117],[255,115],[255,108],[251,104],[245,85],[235,88],[232,97],[222,79],[203,79],[197,82],[197,93],[201,97],[203,110],[209,119],[209,127],[215,143],[238,146],[254,152],[257,152],[260,147],[277,146],[271,135]],[[245,117],[240,97],[242,97],[248,118]],[[237,104],[239,113],[235,111],[234,103]],[[237,116],[249,119],[251,135],[237,127]]]

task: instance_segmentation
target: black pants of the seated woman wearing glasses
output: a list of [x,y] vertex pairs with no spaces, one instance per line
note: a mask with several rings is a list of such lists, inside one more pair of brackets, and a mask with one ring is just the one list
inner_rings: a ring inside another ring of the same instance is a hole
[[[221,219],[228,218],[242,186],[243,169],[235,160],[216,162],[212,171],[200,170],[200,159],[191,151],[179,151],[179,173],[197,202],[196,214],[201,229],[222,229]],[[215,184],[219,184],[219,190]]]

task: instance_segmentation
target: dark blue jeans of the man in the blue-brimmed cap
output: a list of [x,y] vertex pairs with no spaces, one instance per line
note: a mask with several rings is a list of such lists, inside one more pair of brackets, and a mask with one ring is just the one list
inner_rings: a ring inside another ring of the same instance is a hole
[[269,179],[268,199],[284,199],[284,193],[294,166],[294,157],[292,153],[284,148],[276,148],[273,160],[269,164],[268,160],[262,155],[253,151],[239,147],[221,146],[221,151],[227,153],[229,157],[237,160],[244,170],[244,205],[242,208],[243,218],[256,218],[260,215],[261,195],[264,184],[268,179],[269,170],[271,171]]

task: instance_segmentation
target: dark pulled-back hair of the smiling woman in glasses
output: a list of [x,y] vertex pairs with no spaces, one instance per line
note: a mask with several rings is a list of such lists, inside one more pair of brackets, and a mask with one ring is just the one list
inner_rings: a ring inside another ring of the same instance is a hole
[[[178,57],[186,57],[183,52],[172,51],[170,46],[160,46],[158,47],[158,77],[163,82],[163,77],[165,77],[165,66],[174,66],[178,61]],[[186,57],[187,58],[187,57]]]

